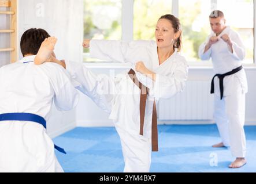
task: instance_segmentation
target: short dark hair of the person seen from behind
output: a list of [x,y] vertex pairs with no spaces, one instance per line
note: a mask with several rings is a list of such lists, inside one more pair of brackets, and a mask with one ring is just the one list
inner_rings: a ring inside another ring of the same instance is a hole
[[27,54],[36,55],[42,42],[50,37],[44,29],[31,28],[26,30],[21,36],[20,49],[23,57]]

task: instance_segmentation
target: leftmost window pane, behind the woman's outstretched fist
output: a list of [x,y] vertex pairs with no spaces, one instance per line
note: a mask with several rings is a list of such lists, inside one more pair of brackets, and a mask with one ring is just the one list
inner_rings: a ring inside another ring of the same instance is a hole
[[[121,40],[121,0],[84,0],[84,39]],[[84,49],[84,61],[98,61]]]

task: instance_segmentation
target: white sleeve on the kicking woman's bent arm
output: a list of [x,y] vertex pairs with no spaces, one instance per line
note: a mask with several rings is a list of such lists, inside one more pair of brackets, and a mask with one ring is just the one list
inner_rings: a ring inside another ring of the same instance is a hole
[[185,88],[188,78],[188,65],[186,62],[177,64],[175,72],[169,75],[157,74],[154,85],[150,89],[150,97],[170,98]]

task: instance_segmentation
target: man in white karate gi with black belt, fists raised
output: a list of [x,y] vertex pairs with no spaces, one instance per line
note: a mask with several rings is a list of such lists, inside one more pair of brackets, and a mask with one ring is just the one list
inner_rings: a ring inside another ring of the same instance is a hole
[[[230,146],[236,160],[229,167],[238,168],[246,163],[246,137],[243,126],[245,95],[248,89],[246,73],[242,68],[245,49],[239,34],[225,25],[222,11],[212,12],[210,25],[213,33],[199,47],[199,57],[202,60],[212,57],[214,72],[222,74],[217,75],[218,77],[213,79],[214,83],[212,82],[213,115],[222,139],[221,143],[213,147]],[[220,82],[223,82],[222,85]]]

